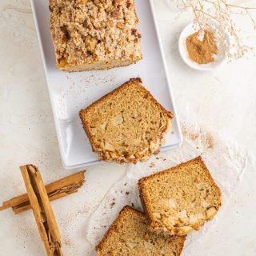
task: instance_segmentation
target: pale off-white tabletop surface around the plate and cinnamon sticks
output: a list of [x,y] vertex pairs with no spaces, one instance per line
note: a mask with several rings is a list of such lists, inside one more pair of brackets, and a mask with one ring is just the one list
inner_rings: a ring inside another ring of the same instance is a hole
[[[187,102],[207,125],[236,139],[254,154],[255,58],[232,62],[210,73],[190,70],[179,57],[177,43],[178,35],[190,22],[190,17],[171,13],[164,0],[154,0],[154,4],[177,106],[180,102]],[[72,171],[62,169],[28,0],[0,2],[0,31],[0,200],[5,201],[25,191],[18,166],[33,162],[42,170],[45,182]],[[255,45],[256,36],[252,40]],[[64,254],[85,255],[90,246],[84,234],[86,217],[98,198],[122,176],[125,169],[126,166],[115,164],[87,168],[86,186],[69,198],[53,202]],[[255,187],[256,172],[248,170],[223,213],[222,225],[218,225],[218,230],[210,231],[211,235],[197,256],[256,254]],[[80,206],[77,205],[78,194],[84,197]],[[14,216],[10,210],[0,213],[0,255],[11,256],[17,252],[21,256],[44,255],[31,214],[26,212]],[[78,222],[77,215],[83,215],[84,221]]]

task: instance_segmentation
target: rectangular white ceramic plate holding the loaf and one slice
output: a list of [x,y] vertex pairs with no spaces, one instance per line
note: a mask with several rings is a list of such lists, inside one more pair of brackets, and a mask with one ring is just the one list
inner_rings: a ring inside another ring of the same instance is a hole
[[182,143],[166,63],[155,26],[153,2],[135,0],[135,3],[140,19],[143,60],[135,65],[112,70],[66,73],[55,67],[48,0],[31,0],[62,162],[66,169],[89,166],[98,162],[97,154],[92,152],[82,129],[79,110],[134,77],[142,78],[143,85],[150,90],[158,102],[161,102],[167,110],[174,112],[172,130],[166,135],[166,145],[161,150],[170,150]]

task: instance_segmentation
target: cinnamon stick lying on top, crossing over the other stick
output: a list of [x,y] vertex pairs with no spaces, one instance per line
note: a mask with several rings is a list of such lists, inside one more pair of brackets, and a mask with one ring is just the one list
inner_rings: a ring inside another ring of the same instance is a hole
[[48,256],[62,256],[58,225],[41,174],[38,168],[32,165],[21,166],[20,170],[46,253]]

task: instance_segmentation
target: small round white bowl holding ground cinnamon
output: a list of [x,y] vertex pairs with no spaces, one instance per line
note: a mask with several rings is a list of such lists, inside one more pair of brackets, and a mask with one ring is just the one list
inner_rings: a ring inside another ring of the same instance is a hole
[[[181,55],[186,65],[190,66],[194,70],[202,70],[202,71],[214,70],[217,66],[222,65],[222,63],[226,59],[226,56],[223,53],[222,47],[218,44],[218,42],[217,42],[218,54],[214,56],[214,62],[210,62],[207,64],[198,64],[197,62],[192,61],[188,56],[188,53],[186,50],[186,38],[197,31],[198,31],[198,28],[194,28],[193,23],[190,23],[182,30],[182,33],[180,34],[179,40],[178,40],[179,54]],[[229,37],[227,35],[226,35],[226,40],[229,41]]]

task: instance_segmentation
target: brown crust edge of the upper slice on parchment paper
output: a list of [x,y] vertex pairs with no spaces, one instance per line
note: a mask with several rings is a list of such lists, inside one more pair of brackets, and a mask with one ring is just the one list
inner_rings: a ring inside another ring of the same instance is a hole
[[[218,207],[217,207],[216,210],[218,210],[220,208],[220,206],[222,206],[222,192],[219,189],[219,187],[217,186],[217,184],[214,182],[214,179],[210,175],[210,172],[207,169],[205,163],[202,161],[201,156],[199,156],[198,158],[191,159],[188,162],[182,162],[178,166],[174,166],[174,167],[172,167],[170,169],[162,170],[162,171],[160,171],[160,172],[158,172],[156,174],[151,174],[150,176],[141,178],[138,181],[138,190],[139,190],[139,193],[140,193],[140,198],[141,198],[141,201],[142,201],[142,205],[143,205],[143,208],[144,208],[144,210],[146,212],[146,216],[148,218],[148,221],[149,221],[149,224],[150,224],[152,230],[154,230],[158,234],[168,234],[170,236],[186,235],[189,231],[188,232],[185,232],[185,231],[184,232],[177,232],[178,228],[177,229],[175,228],[175,230],[170,230],[170,229],[168,229],[166,227],[156,226],[155,225],[155,223],[153,222],[154,217],[152,215],[152,210],[150,210],[151,207],[150,207],[150,204],[149,204],[149,198],[147,198],[147,194],[144,193],[146,182],[149,181],[151,178],[161,177],[161,176],[164,176],[165,174],[170,173],[170,171],[178,170],[180,167],[187,166],[187,165],[189,165],[192,162],[198,162],[202,166],[203,170],[205,171],[205,174],[206,174],[207,178],[209,179],[210,186],[213,186],[214,189],[217,191],[217,194],[218,194]],[[210,220],[210,219],[211,218],[206,218],[206,220]]]

